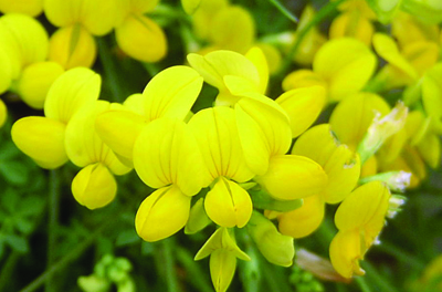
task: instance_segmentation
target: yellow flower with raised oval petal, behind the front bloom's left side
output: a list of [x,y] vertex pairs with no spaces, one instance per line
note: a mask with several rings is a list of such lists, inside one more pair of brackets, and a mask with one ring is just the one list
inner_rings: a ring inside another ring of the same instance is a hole
[[201,86],[202,77],[191,67],[166,69],[150,80],[143,98],[136,97],[135,103],[143,111],[130,111],[128,105],[126,109],[105,112],[97,116],[96,131],[118,158],[130,166],[134,144],[146,124],[159,117],[185,119]]

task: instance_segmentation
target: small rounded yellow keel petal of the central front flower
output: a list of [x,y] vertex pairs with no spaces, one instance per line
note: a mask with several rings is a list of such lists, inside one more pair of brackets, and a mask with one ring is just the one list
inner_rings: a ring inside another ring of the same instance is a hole
[[252,216],[249,194],[235,182],[220,177],[207,194],[204,208],[209,218],[222,227],[244,227]]

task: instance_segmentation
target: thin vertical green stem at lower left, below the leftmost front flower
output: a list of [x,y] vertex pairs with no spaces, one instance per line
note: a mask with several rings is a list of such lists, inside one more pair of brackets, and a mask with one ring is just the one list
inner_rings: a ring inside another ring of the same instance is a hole
[[[59,226],[60,213],[60,178],[59,170],[50,171],[50,195],[49,195],[49,222],[48,222],[48,259],[46,269],[55,261],[56,250],[56,228]],[[56,291],[52,277],[48,278],[45,291]]]

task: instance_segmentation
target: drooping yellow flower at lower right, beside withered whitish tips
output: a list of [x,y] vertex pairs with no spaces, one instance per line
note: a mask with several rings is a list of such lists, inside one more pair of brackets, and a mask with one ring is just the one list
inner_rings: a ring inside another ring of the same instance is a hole
[[361,275],[367,250],[377,242],[385,226],[391,195],[379,181],[371,181],[354,190],[335,215],[338,233],[330,243],[330,260],[336,271],[345,278]]

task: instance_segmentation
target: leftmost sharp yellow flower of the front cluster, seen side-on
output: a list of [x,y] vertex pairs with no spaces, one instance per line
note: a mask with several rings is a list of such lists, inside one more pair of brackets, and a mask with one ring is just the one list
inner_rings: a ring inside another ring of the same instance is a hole
[[84,67],[63,73],[51,86],[44,115],[29,116],[14,123],[12,140],[43,168],[57,168],[67,161],[65,131],[70,119],[98,98],[101,77]]

